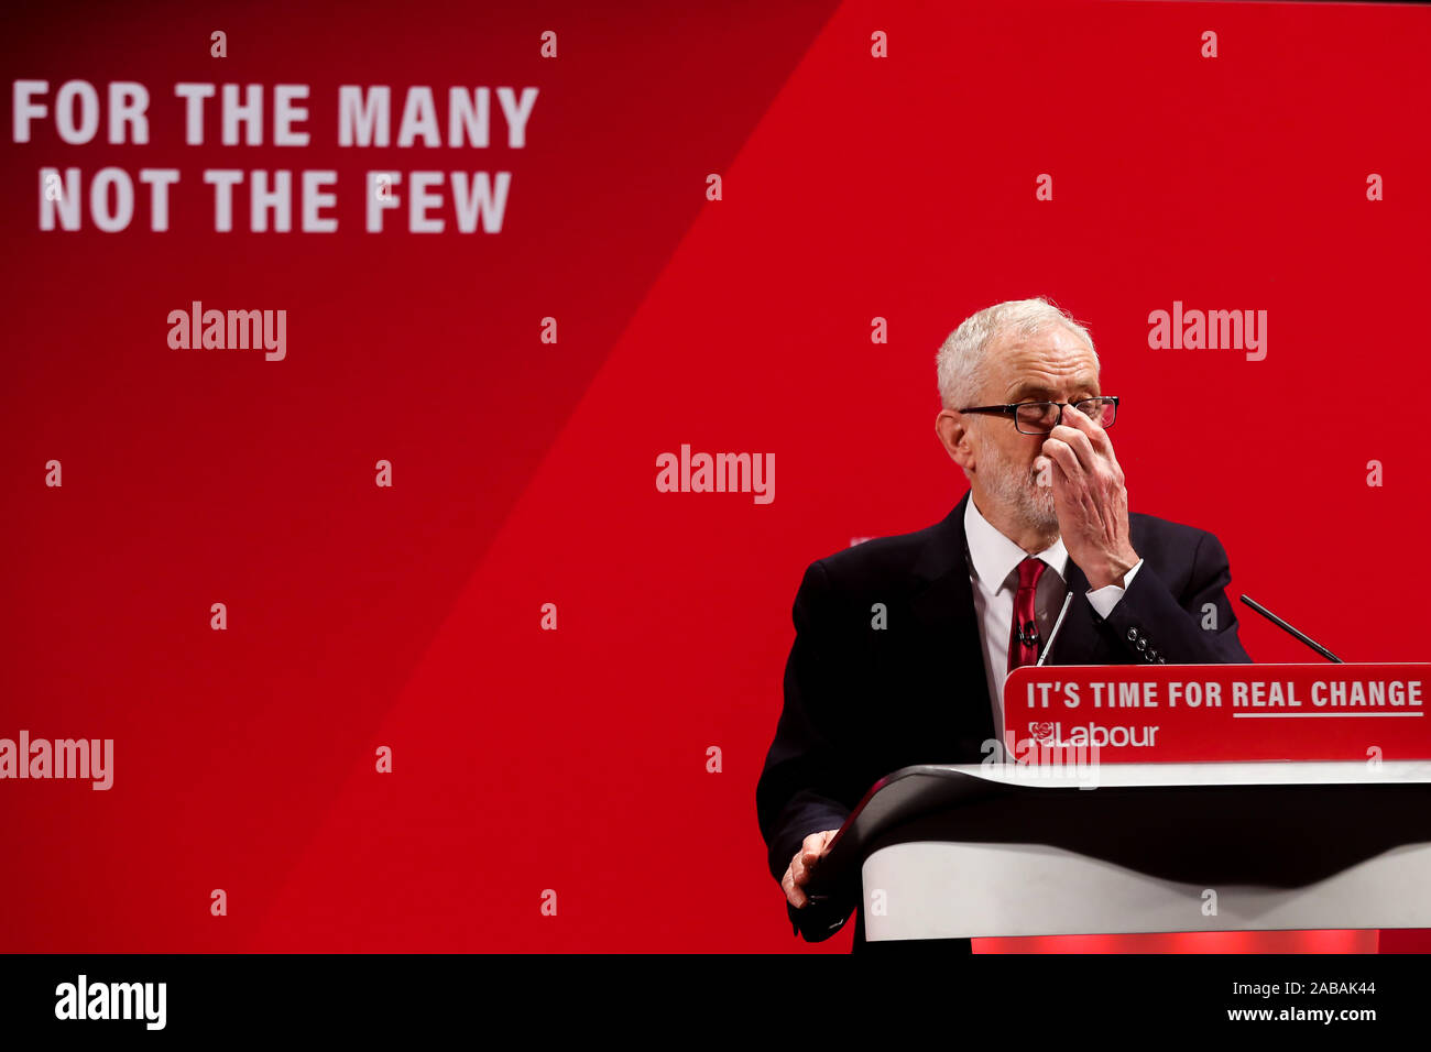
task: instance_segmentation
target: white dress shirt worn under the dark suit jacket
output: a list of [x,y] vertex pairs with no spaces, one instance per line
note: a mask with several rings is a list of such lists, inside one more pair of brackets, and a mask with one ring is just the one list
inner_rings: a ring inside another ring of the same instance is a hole
[[[989,684],[989,703],[993,706],[995,733],[1003,737],[1003,681],[1009,668],[1009,634],[1013,630],[1013,595],[1019,590],[1019,564],[1029,557],[1023,548],[1010,541],[989,524],[975,507],[973,494],[964,505],[964,538],[969,564],[969,583],[973,585],[975,614],[983,630],[985,680]],[[1033,593],[1033,611],[1039,623],[1040,653],[1047,648],[1053,634],[1053,623],[1063,608],[1068,595],[1069,552],[1060,537],[1047,548],[1035,554],[1047,564],[1039,577]],[[1133,574],[1142,567],[1138,560],[1123,575],[1123,585],[1109,584],[1105,588],[1089,588],[1088,601],[1100,617],[1108,617],[1123,591],[1133,583]],[[1049,573],[1052,570],[1053,573]],[[1076,603],[1078,600],[1075,600]],[[1062,631],[1062,628],[1059,630]]]

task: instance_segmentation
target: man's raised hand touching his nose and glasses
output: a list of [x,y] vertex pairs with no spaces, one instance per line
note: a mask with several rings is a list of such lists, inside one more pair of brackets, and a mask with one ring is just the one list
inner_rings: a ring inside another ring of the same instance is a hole
[[1090,588],[1123,584],[1138,564],[1128,532],[1128,490],[1108,432],[1072,405],[1043,439],[1053,464],[1053,507],[1069,558]]

